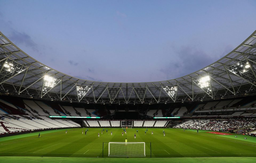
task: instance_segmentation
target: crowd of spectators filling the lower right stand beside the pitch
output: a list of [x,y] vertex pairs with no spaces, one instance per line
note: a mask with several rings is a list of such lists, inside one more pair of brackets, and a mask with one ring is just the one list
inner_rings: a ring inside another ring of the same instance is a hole
[[216,119],[202,119],[202,120],[185,120],[185,122],[176,125],[178,128],[198,128],[203,130],[226,131],[252,126],[255,127],[256,120],[216,120]]

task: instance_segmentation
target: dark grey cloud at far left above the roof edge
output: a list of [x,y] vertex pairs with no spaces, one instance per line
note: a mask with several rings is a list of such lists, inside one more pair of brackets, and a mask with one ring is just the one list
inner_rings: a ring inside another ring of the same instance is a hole
[[32,40],[32,38],[25,32],[18,32],[14,29],[12,30],[10,36],[10,40],[15,42],[15,44],[23,44],[26,47],[32,48],[34,51],[38,52],[37,44]]

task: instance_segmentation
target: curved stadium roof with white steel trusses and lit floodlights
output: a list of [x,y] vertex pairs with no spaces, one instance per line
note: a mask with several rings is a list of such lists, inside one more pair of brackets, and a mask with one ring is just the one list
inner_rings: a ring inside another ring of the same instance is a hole
[[[64,74],[30,57],[0,32],[2,92],[81,102],[149,103],[242,95],[256,87],[256,31],[232,52],[180,78],[143,83],[97,82]],[[174,71],[174,70],[170,70]]]

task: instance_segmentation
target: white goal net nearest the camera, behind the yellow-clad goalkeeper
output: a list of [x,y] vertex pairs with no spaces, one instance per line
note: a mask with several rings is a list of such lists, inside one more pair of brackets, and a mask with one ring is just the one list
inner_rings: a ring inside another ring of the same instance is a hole
[[109,156],[146,156],[145,142],[109,142]]

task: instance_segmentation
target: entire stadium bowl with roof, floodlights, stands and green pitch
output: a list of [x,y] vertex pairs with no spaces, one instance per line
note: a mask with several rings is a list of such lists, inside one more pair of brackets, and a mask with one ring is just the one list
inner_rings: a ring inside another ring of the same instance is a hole
[[65,74],[12,39],[0,31],[0,162],[256,162],[256,31],[193,73],[126,83]]

